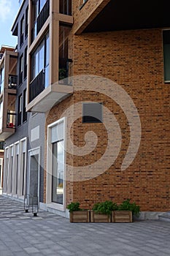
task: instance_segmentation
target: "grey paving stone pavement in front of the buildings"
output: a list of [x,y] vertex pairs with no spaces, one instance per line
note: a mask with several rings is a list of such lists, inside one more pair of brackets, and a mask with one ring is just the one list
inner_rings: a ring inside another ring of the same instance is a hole
[[0,196],[0,256],[170,255],[170,222],[70,223],[45,211],[31,215]]

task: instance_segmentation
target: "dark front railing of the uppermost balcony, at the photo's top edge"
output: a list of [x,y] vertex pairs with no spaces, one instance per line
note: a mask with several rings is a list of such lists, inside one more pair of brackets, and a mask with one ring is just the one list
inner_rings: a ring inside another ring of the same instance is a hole
[[47,0],[41,12],[39,12],[38,17],[34,22],[34,26],[31,29],[31,43],[36,38],[36,35],[39,34],[39,31],[42,29],[42,26],[45,24],[45,21],[50,15],[50,0]]

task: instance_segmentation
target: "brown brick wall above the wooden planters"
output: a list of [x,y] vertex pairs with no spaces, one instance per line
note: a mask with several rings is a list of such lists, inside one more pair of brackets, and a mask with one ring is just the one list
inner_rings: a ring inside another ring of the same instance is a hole
[[[47,124],[56,121],[62,111],[73,103],[88,100],[103,102],[117,118],[123,137],[120,154],[109,170],[90,180],[74,184],[68,181],[66,203],[78,200],[82,207],[90,208],[101,200],[120,203],[131,198],[139,203],[142,211],[169,211],[170,89],[169,84],[163,82],[162,44],[161,29],[74,36],[74,75],[100,75],[122,86],[139,111],[142,139],[136,158],[128,169],[122,171],[120,167],[130,135],[128,120],[120,106],[106,95],[93,91],[75,91],[72,97],[56,105],[47,117]],[[77,115],[76,106],[74,115]],[[67,154],[67,162],[75,167],[96,162],[107,148],[104,124],[82,124],[81,118],[77,118],[72,125],[74,145],[85,146],[85,132],[88,130],[96,132],[98,144],[91,154],[83,157]],[[81,178],[81,175],[81,172],[74,173],[74,177]]]

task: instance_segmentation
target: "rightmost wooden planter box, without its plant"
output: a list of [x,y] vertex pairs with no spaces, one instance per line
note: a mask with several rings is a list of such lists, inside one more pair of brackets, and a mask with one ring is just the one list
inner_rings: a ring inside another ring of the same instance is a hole
[[132,222],[132,212],[112,211],[112,222]]

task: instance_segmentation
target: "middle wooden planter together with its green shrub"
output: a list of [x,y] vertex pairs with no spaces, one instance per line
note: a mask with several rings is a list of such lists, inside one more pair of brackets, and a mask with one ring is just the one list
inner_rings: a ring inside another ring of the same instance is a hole
[[117,204],[112,201],[95,203],[90,212],[91,222],[111,222],[112,211],[117,210]]

